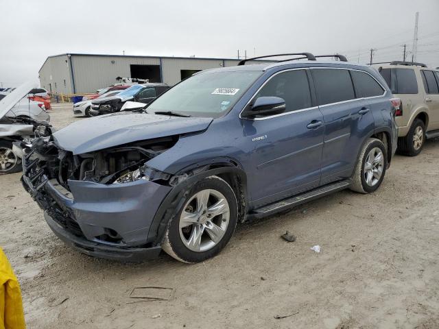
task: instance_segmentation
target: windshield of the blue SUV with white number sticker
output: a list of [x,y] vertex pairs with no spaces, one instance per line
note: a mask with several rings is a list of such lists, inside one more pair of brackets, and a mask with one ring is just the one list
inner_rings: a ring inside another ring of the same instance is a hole
[[158,97],[147,107],[147,112],[172,111],[193,117],[221,117],[261,74],[261,71],[196,74]]

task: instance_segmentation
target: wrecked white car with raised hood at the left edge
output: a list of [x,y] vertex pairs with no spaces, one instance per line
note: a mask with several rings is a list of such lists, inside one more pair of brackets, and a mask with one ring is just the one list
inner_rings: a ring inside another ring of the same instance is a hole
[[52,132],[44,104],[27,98],[32,88],[35,84],[23,84],[0,100],[0,174],[21,171],[12,143]]

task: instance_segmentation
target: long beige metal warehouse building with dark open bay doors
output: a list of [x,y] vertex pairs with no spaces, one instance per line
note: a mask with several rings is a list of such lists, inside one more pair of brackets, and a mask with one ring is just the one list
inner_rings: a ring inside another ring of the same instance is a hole
[[40,86],[51,93],[81,94],[115,84],[116,77],[137,77],[171,86],[197,71],[238,62],[230,58],[63,53],[49,56],[38,73]]

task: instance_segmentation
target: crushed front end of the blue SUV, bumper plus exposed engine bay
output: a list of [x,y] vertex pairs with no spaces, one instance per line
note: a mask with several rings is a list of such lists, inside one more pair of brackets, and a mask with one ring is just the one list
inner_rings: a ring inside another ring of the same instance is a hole
[[53,138],[37,138],[25,149],[21,180],[67,245],[100,258],[154,258],[161,247],[147,236],[171,176],[146,163],[176,141],[155,138],[75,155]]

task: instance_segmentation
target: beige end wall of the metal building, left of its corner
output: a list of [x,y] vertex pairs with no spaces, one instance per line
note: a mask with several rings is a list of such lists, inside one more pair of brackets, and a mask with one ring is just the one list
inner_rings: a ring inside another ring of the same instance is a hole
[[40,69],[40,86],[53,93],[73,93],[67,56],[47,58]]

